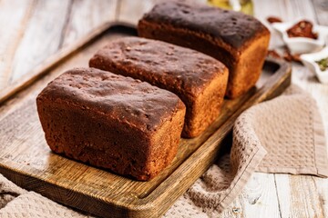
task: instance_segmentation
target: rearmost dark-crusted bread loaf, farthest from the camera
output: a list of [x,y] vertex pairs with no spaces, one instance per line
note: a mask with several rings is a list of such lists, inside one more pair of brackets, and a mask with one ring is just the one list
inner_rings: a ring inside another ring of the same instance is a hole
[[267,53],[269,30],[250,15],[207,5],[155,5],[138,22],[138,35],[209,54],[229,68],[227,96],[256,84]]

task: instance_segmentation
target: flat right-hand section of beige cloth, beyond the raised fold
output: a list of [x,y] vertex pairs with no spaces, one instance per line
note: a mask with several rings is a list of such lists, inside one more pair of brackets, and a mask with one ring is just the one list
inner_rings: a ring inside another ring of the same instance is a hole
[[255,132],[268,152],[257,171],[328,176],[323,120],[310,94],[292,86],[251,111],[256,114]]

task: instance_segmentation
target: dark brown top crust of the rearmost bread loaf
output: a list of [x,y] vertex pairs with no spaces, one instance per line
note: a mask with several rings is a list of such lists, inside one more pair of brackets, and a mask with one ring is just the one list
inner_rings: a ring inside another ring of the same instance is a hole
[[270,35],[269,30],[251,15],[207,5],[161,3],[155,5],[142,20],[210,35],[237,50],[258,34]]

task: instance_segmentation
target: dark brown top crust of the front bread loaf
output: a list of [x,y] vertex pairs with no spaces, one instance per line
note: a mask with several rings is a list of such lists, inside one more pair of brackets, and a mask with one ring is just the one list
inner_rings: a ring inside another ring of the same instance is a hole
[[37,99],[104,114],[142,132],[155,131],[172,114],[185,110],[179,97],[169,91],[95,68],[61,74]]

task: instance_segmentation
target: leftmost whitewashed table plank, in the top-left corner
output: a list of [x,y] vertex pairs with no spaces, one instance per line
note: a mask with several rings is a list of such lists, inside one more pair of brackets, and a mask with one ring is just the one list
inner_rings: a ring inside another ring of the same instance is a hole
[[32,8],[32,0],[2,0],[0,2],[0,26],[2,26],[0,29],[0,88],[8,84],[12,60],[24,35]]

